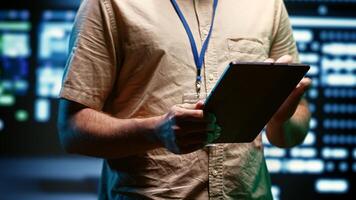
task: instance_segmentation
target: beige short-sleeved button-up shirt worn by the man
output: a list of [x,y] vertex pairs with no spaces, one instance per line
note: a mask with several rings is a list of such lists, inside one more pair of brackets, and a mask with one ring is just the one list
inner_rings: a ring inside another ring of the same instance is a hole
[[[200,49],[213,0],[178,0]],[[190,43],[170,0],[84,0],[60,96],[118,118],[162,115],[195,91]],[[209,92],[229,62],[297,50],[282,0],[220,0],[205,56]],[[243,134],[243,133],[237,133]],[[100,199],[271,199],[261,136],[186,155],[106,160]]]

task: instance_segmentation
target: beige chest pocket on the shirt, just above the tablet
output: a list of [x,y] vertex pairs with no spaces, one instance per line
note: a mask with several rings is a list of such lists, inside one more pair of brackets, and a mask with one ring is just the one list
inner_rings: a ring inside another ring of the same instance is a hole
[[268,40],[257,38],[228,38],[230,61],[263,62],[268,58]]

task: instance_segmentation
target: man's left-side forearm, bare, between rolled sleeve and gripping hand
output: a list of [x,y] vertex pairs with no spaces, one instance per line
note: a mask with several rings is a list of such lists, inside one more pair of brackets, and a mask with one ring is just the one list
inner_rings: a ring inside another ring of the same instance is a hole
[[117,119],[84,108],[59,123],[60,139],[70,153],[119,158],[160,146],[154,139],[159,117]]

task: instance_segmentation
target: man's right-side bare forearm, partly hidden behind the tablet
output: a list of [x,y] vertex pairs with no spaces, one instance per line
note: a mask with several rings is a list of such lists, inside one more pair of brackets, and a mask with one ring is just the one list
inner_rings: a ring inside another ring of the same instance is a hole
[[310,111],[308,103],[302,99],[294,114],[288,120],[271,120],[267,124],[267,137],[278,147],[293,147],[301,144],[308,133]]

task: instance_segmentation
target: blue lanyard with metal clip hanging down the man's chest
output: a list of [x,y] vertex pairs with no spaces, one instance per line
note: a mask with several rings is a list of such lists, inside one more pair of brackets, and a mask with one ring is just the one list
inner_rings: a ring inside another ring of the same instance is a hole
[[218,0],[214,0],[213,16],[212,16],[212,19],[211,19],[210,30],[209,30],[209,33],[208,33],[208,35],[207,35],[207,37],[206,37],[206,39],[205,39],[205,41],[203,43],[203,46],[202,46],[201,51],[200,51],[200,54],[198,53],[197,45],[195,43],[192,31],[190,30],[189,25],[188,25],[184,15],[183,15],[182,11],[180,10],[176,0],[171,0],[171,3],[173,5],[174,9],[176,10],[180,20],[182,21],[183,26],[185,28],[185,31],[187,32],[187,35],[189,37],[190,46],[192,48],[192,52],[193,52],[193,56],[194,56],[195,66],[197,67],[196,90],[197,90],[197,93],[199,95],[200,88],[201,88],[201,68],[203,66],[206,49],[208,48],[211,32],[213,30],[214,18],[215,18],[216,8],[218,6]]

